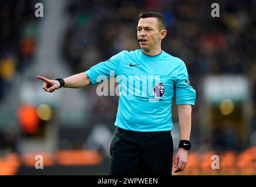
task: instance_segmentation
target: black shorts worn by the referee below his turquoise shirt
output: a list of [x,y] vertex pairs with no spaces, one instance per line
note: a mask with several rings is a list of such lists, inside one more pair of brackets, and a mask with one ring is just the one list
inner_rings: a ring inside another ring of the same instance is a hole
[[118,128],[110,155],[110,175],[171,175],[171,131],[144,133]]

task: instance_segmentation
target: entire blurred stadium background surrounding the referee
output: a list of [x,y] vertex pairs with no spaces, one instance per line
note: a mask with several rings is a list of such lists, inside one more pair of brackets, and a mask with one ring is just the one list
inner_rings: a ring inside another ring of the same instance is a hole
[[[107,175],[118,97],[97,96],[96,86],[49,94],[35,75],[68,77],[137,49],[143,11],[166,16],[163,50],[185,61],[197,91],[193,147],[179,175],[256,174],[256,1],[0,2],[0,175]],[[173,123],[177,151],[175,105]]]

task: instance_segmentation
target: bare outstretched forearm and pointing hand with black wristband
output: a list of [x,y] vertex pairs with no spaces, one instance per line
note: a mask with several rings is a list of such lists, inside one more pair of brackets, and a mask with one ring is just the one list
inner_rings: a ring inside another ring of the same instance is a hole
[[[59,81],[48,79],[41,76],[36,76],[36,77],[45,82],[45,84],[43,84],[43,89],[46,92],[53,92],[55,91],[55,89],[60,88]],[[82,88],[91,84],[91,81],[89,77],[87,77],[87,74],[85,72],[72,75],[68,78],[65,78],[64,81],[65,81],[65,85],[64,85],[65,88]]]

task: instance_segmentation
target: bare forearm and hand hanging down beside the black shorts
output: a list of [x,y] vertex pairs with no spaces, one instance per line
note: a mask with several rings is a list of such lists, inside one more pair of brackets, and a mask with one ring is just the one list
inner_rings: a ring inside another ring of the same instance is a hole
[[[180,140],[188,140],[191,131],[191,105],[178,105],[178,121],[180,124]],[[185,148],[179,148],[175,156],[174,172],[183,171],[187,165],[187,153]]]

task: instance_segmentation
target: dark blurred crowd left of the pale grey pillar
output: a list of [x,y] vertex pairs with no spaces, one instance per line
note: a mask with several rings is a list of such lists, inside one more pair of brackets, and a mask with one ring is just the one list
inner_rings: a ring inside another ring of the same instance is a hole
[[8,94],[15,75],[32,63],[38,26],[35,2],[0,1],[0,101]]

